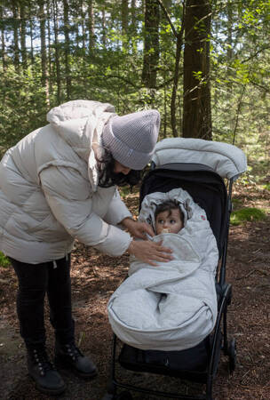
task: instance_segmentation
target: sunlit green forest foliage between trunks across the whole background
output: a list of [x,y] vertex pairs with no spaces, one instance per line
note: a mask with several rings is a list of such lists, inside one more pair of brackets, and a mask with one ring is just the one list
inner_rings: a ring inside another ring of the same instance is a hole
[[[48,7],[52,0],[48,0]],[[47,47],[49,98],[42,81],[42,57],[38,6],[30,2],[26,15],[28,31],[28,67],[14,68],[12,44],[14,20],[12,9],[5,2],[4,20],[5,68],[0,63],[0,156],[28,132],[46,124],[46,113],[58,102],[91,99],[111,102],[116,112],[125,114],[142,108],[157,108],[162,115],[161,138],[171,136],[171,92],[173,87],[176,37],[171,24],[161,12],[159,30],[160,58],[156,88],[141,84],[143,66],[144,10],[142,2],[128,12],[128,27],[122,29],[121,2],[95,2],[95,48],[89,48],[87,2],[78,7],[69,2],[68,68],[71,79],[67,99],[65,51],[62,14],[59,9],[59,43],[53,43],[53,21],[50,14],[51,44]],[[181,2],[164,2],[174,27],[179,31],[182,23]],[[269,161],[269,84],[270,50],[268,32],[270,4],[268,0],[216,0],[211,2],[212,26],[210,37],[210,86],[213,139],[234,143],[242,148],[250,160]],[[53,7],[51,7],[52,11]],[[33,23],[35,49],[30,54],[30,21]],[[84,21],[84,36],[81,24]],[[48,21],[47,21],[48,22]],[[20,21],[18,22],[20,24]],[[199,26],[199,25],[198,25]],[[21,28],[21,27],[19,27]],[[47,32],[48,34],[48,32]],[[20,36],[20,30],[19,30]],[[84,47],[82,44],[84,41]],[[20,47],[20,45],[19,45]],[[60,58],[60,99],[56,76],[56,50]],[[184,50],[184,46],[183,46]],[[176,120],[181,135],[183,118],[183,54],[179,68]],[[3,52],[0,52],[3,57]],[[202,72],[196,71],[202,85]],[[49,104],[48,104],[49,102]],[[251,181],[249,172],[247,180]],[[255,181],[256,182],[256,181]]]

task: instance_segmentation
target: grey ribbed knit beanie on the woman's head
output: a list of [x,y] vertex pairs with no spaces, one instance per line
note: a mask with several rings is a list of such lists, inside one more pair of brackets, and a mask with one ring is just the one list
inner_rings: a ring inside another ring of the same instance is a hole
[[160,127],[155,109],[112,116],[102,132],[103,145],[114,159],[132,170],[142,170],[154,153]]

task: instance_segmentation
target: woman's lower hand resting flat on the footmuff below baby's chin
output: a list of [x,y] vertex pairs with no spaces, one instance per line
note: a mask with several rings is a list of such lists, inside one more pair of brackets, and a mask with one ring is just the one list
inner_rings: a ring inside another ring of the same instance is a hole
[[157,265],[155,261],[168,262],[173,260],[171,249],[163,247],[163,242],[151,242],[150,240],[132,240],[128,252],[133,254],[138,260],[147,262],[147,264]]

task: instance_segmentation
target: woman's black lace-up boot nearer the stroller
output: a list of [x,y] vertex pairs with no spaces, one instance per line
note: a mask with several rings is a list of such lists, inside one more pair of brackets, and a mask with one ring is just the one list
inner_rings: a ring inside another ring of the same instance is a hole
[[98,373],[96,365],[89,357],[83,356],[74,343],[61,345],[56,342],[54,361],[58,368],[72,370],[81,378],[93,378]]

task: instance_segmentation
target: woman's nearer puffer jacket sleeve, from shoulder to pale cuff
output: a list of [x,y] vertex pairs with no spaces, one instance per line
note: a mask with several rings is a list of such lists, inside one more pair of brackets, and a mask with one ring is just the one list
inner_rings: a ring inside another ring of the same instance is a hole
[[79,171],[50,166],[39,176],[54,217],[70,236],[112,256],[122,255],[127,250],[131,236],[107,224],[92,211],[90,182]]

